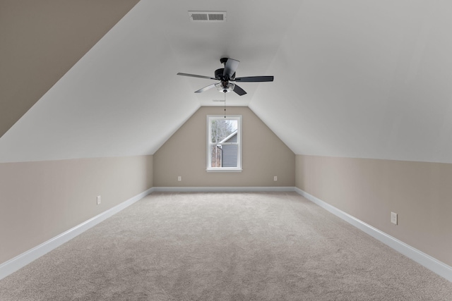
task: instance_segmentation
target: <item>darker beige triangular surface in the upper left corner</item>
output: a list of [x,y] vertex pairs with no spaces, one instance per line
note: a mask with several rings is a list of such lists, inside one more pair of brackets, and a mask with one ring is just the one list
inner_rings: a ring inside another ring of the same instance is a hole
[[138,0],[1,0],[0,137]]

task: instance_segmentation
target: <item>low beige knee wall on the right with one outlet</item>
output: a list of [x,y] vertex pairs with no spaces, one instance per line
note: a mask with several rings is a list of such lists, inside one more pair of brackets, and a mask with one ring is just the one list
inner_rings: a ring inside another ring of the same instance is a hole
[[297,155],[296,187],[452,266],[452,164]]

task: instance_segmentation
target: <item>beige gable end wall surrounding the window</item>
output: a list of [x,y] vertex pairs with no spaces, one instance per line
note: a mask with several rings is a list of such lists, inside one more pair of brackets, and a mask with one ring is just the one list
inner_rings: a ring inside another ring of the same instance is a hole
[[247,107],[227,107],[227,114],[242,115],[243,171],[206,171],[206,116],[222,113],[222,107],[201,107],[155,152],[154,186],[294,186],[295,154]]

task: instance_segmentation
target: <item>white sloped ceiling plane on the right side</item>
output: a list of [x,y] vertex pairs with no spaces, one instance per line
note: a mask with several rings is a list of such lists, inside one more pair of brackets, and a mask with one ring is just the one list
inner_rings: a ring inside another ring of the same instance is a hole
[[452,2],[304,1],[249,104],[296,154],[452,162]]

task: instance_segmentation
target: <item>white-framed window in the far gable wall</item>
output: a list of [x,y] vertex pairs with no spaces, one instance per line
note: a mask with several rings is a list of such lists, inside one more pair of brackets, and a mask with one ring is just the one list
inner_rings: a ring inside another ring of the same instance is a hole
[[207,171],[242,171],[242,116],[207,116]]

